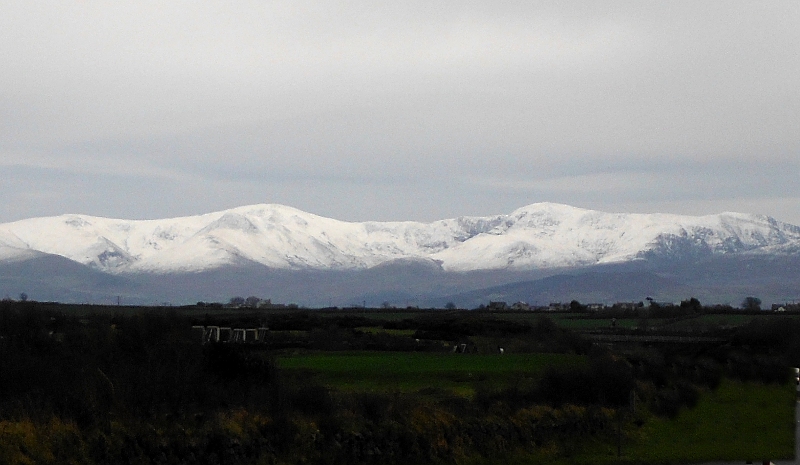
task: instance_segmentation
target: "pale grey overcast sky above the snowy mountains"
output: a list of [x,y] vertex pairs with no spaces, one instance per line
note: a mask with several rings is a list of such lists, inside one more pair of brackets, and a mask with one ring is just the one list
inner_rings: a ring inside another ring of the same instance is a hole
[[[378,6],[379,5],[379,6]],[[0,222],[800,225],[800,2],[0,2]]]

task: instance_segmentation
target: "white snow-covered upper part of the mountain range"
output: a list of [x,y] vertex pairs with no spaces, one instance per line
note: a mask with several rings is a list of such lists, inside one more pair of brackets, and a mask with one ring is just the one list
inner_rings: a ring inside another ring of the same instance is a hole
[[352,223],[253,205],[164,220],[62,215],[0,224],[0,261],[54,254],[112,273],[253,262],[364,269],[400,259],[434,261],[450,271],[529,270],[798,250],[800,228],[765,216],[618,214],[549,203],[432,223]]

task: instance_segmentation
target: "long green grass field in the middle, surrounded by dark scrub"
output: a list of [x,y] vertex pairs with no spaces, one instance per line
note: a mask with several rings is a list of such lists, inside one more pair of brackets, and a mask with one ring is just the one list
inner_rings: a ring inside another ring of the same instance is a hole
[[306,353],[277,358],[288,374],[311,376],[322,385],[350,392],[446,390],[463,396],[478,386],[530,383],[550,366],[574,366],[572,354],[452,354],[422,352]]

